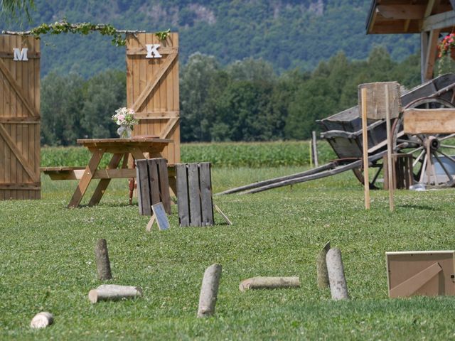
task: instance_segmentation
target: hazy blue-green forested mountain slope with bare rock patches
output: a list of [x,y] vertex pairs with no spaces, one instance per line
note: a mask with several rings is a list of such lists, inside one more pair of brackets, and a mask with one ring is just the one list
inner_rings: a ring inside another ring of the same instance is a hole
[[[366,36],[369,6],[368,0],[36,0],[33,22],[22,29],[64,17],[129,30],[171,28],[180,33],[183,63],[199,51],[215,55],[222,64],[263,58],[277,71],[311,70],[339,51],[349,59],[364,59],[378,44],[395,60],[417,51],[416,35]],[[18,29],[6,22],[0,27]],[[43,37],[43,75],[73,70],[90,77],[110,68],[124,69],[124,60],[124,48],[97,33]]]

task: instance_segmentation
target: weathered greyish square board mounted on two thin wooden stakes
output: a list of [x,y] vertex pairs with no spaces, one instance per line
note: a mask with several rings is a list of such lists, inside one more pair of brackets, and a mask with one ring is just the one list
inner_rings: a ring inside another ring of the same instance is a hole
[[[358,103],[362,107],[362,89],[366,90],[368,119],[385,119],[387,109],[390,119],[395,119],[401,112],[400,84],[397,82],[365,83],[358,86]],[[388,99],[388,100],[387,100]],[[388,104],[387,104],[388,102]]]

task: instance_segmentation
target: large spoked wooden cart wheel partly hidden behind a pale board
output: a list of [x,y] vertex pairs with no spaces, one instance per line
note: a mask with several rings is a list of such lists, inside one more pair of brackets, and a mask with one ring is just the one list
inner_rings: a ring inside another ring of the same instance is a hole
[[[405,109],[455,108],[437,97],[424,97]],[[397,153],[412,154],[414,182],[435,187],[451,187],[455,176],[455,134],[404,134],[402,114],[392,126],[392,144]],[[454,131],[455,133],[455,131]],[[406,146],[400,146],[406,144]],[[430,162],[430,165],[428,163]]]

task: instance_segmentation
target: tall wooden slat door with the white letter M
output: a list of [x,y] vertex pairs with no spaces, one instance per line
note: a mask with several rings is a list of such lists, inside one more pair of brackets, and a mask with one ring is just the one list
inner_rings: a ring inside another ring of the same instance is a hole
[[0,200],[41,197],[39,108],[39,40],[1,35]]

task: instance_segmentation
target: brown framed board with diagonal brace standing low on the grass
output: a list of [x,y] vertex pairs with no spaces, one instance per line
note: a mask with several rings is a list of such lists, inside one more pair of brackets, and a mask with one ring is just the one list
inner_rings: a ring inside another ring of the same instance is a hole
[[389,297],[455,295],[455,251],[386,252]]

